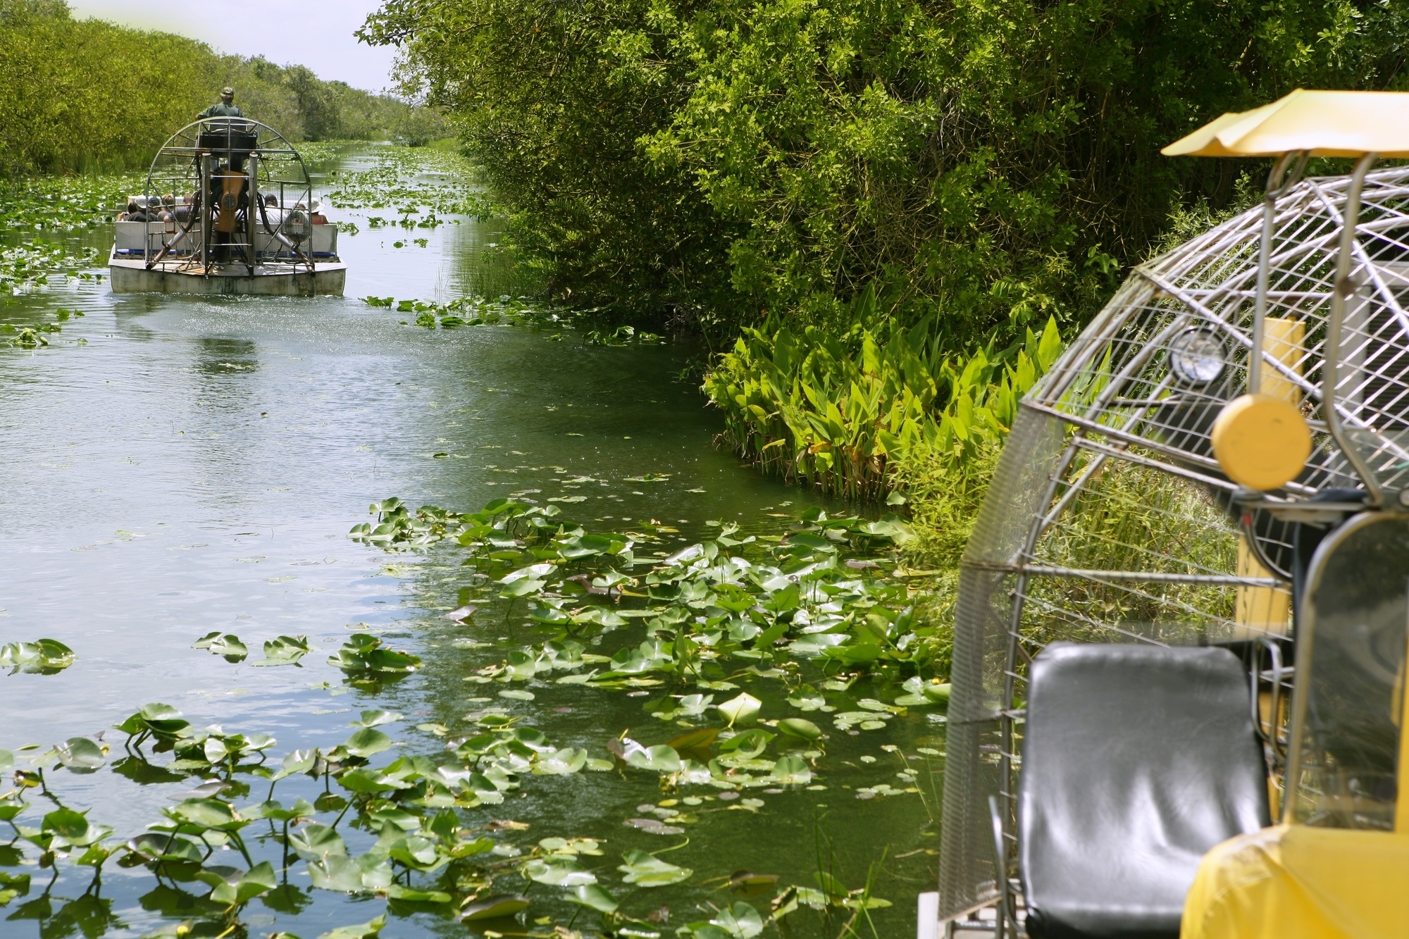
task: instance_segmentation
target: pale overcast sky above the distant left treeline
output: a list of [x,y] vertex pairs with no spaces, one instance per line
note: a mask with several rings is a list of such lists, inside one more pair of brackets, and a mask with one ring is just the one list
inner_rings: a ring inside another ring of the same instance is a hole
[[352,32],[378,0],[69,0],[73,16],[179,32],[232,55],[307,65],[321,79],[380,92],[390,85],[395,49]]

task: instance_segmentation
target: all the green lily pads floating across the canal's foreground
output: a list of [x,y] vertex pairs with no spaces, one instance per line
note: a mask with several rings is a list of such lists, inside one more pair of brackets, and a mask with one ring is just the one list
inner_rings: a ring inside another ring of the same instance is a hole
[[[869,668],[913,670],[919,660],[923,637],[910,620],[906,587],[883,572],[892,564],[886,551],[907,536],[895,517],[838,519],[813,510],[782,534],[716,524],[710,540],[645,558],[640,556],[675,529],[643,522],[631,532],[593,533],[565,519],[558,505],[511,499],[472,513],[411,512],[399,499],[371,510],[376,519],[354,529],[356,540],[464,556],[458,570],[471,585],[447,613],[457,627],[469,627],[486,608],[517,609],[533,623],[534,643],[462,675],[469,694],[497,685],[497,696],[469,698],[473,709],[458,730],[416,725],[421,740],[434,742],[424,753],[399,739],[407,736],[396,730],[404,715],[382,708],[362,709],[341,743],[276,756],[271,735],[197,728],[161,702],[117,723],[121,740],[79,736],[42,751],[0,751],[0,771],[13,771],[17,784],[0,792],[0,819],[17,833],[0,846],[0,866],[38,863],[55,871],[24,909],[42,901],[46,912],[34,915],[55,915],[51,891],[61,866],[90,871],[83,895],[96,898],[104,867],[117,864],[151,871],[154,885],[141,905],[170,921],[154,936],[244,935],[251,904],[296,914],[323,891],[389,904],[387,912],[325,938],[372,936],[389,914],[416,911],[500,935],[586,935],[573,932],[566,916],[550,926],[564,907],[596,916],[596,935],[661,938],[669,911],[650,895],[702,883],[697,861],[665,852],[719,819],[765,811],[772,795],[826,790],[830,733],[872,723],[879,730],[938,699],[934,682],[913,675],[902,702],[862,698],[855,711],[827,704],[828,692],[845,692]],[[868,563],[848,567],[854,554]],[[607,637],[623,642],[614,651],[599,649]],[[44,643],[52,640],[6,647],[0,656],[37,661],[27,649]],[[245,642],[221,630],[194,647],[231,661],[249,656]],[[45,654],[56,660],[62,651],[52,643]],[[249,664],[299,664],[311,651],[306,636],[279,636],[263,643],[263,660]],[[371,633],[348,636],[327,663],[351,687],[371,691],[423,667],[420,656]],[[813,684],[803,681],[803,668],[817,673]],[[740,688],[744,680],[782,681],[793,716],[766,713],[764,701]],[[555,740],[528,715],[538,696],[528,685],[644,694],[647,723],[669,730]],[[827,715],[831,728],[795,716],[799,711]],[[855,798],[920,792],[907,757],[898,747],[882,749],[900,760],[900,778],[872,781]],[[186,791],[145,830],[117,832],[68,805],[58,785],[59,773],[104,770]],[[617,847],[571,832],[526,835],[528,823],[504,818],[534,787],[576,774],[651,780],[658,801],[619,818],[623,830],[661,839],[664,847]],[[0,907],[34,890],[27,874],[3,877]],[[848,916],[886,904],[826,871],[816,881],[789,884],[776,874],[726,869],[709,883],[733,898],[702,907],[704,918],[675,932],[737,939],[803,908]],[[90,918],[92,935],[121,926],[111,905],[103,905],[108,901],[93,902],[100,915]],[[533,921],[528,932],[524,916]]]

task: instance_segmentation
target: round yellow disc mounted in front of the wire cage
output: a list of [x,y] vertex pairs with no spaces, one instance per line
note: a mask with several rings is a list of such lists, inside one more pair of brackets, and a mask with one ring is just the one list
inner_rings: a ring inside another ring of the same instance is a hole
[[1270,395],[1243,395],[1223,405],[1212,438],[1227,478],[1264,492],[1295,479],[1312,454],[1302,412]]

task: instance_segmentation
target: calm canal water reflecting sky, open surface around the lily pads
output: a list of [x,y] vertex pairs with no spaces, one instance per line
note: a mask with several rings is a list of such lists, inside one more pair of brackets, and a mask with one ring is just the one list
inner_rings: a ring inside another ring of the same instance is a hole
[[[344,168],[372,155],[347,155]],[[530,636],[507,620],[445,619],[461,579],[454,551],[389,554],[348,540],[349,527],[368,520],[368,505],[387,496],[471,510],[511,492],[583,495],[575,517],[589,526],[657,520],[679,529],[671,536],[679,546],[717,532],[706,522],[782,532],[817,505],[713,447],[720,420],[689,378],[699,358],[690,345],[593,345],[552,323],[426,330],[403,324],[414,316],[364,303],[358,297],[448,302],[502,282],[486,279],[492,226],[461,217],[414,233],[424,247],[407,240],[396,248],[400,233],[369,228],[369,214],[331,211],[362,226],[341,241],[345,297],[114,296],[106,282],[70,281],[3,300],[0,321],[17,326],[52,320],[58,307],[83,313],[46,348],[0,348],[0,643],[49,637],[77,654],[59,674],[0,675],[0,749],[17,751],[21,767],[75,736],[110,746],[113,761],[124,735],[111,725],[158,701],[196,726],[273,735],[275,761],[294,747],[344,740],[368,708],[404,715],[382,728],[399,751],[442,750],[416,726],[464,726],[464,715],[495,694],[464,678]],[[85,238],[104,252],[110,244],[104,228]],[[297,668],[230,664],[192,649],[213,630],[238,634],[251,650],[306,634],[321,651]],[[373,689],[345,682],[325,658],[354,632],[420,654],[423,671]],[[604,651],[640,642],[633,634],[620,643],[607,636]],[[893,699],[893,682],[881,684],[864,678],[827,692],[828,708]],[[672,736],[643,712],[640,694],[528,687],[534,701],[493,701],[557,746],[606,757],[624,732],[645,743]],[[776,681],[758,678],[748,691],[766,718],[802,716]],[[869,922],[855,918],[857,935],[914,935],[916,894],[933,890],[938,790],[924,775],[909,787],[921,792],[903,792],[910,780],[896,780],[907,768],[896,747],[941,751],[941,719],[917,708],[883,730],[847,733],[824,713],[806,716],[830,736],[820,787],[748,805],[710,801],[683,836],[623,825],[662,794],[654,774],[620,770],[526,777],[503,805],[472,815],[519,823],[496,833],[506,859],[514,845],[544,837],[599,840],[603,853],[585,857],[588,867],[624,911],[654,911],[661,935],[709,919],[712,905],[752,902],[766,915],[771,892],[728,890],[740,870],[778,876],[779,887],[817,887],[819,871],[850,890],[869,883],[892,905],[871,909]],[[39,750],[23,750],[28,744]],[[66,805],[89,809],[123,839],[159,821],[192,785],[144,784],[110,768],[52,768],[48,777]],[[858,798],[878,784],[893,788]],[[304,777],[285,785],[285,799],[320,791]],[[44,811],[17,821],[37,825]],[[634,891],[620,883],[624,852],[665,847],[661,857],[689,867],[690,880]],[[32,860],[0,867],[31,874],[30,892],[0,907],[0,935],[141,936],[185,916],[142,867],[110,864],[96,898],[83,897],[86,871],[61,867],[48,892],[49,871]],[[303,864],[294,867],[292,881],[306,888]],[[552,935],[569,922],[593,935],[596,914],[564,902],[559,888],[520,881],[514,890],[534,900],[517,935]],[[385,909],[383,900],[310,891],[292,904],[255,901],[242,922],[249,936],[313,939]],[[854,912],[803,908],[786,922],[793,936],[830,939]],[[445,914],[397,908],[382,935],[473,933],[473,923]]]

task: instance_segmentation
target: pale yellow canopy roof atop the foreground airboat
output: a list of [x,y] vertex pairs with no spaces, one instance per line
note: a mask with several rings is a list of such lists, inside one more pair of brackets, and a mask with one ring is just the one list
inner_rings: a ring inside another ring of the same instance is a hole
[[1409,92],[1296,89],[1251,111],[1224,114],[1160,152],[1165,156],[1409,156]]

